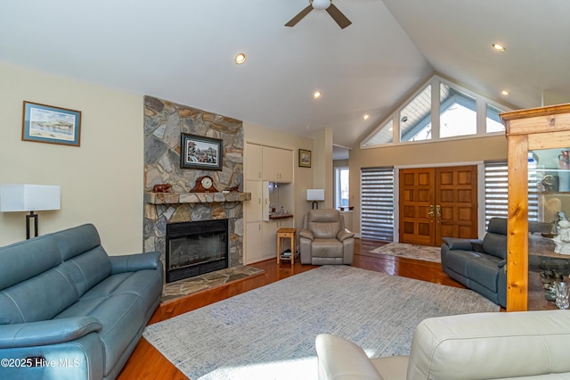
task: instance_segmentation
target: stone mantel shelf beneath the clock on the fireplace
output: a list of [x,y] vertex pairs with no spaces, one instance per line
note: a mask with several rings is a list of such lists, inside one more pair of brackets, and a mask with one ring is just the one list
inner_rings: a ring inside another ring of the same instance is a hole
[[145,193],[144,202],[151,204],[222,203],[251,200],[251,193]]

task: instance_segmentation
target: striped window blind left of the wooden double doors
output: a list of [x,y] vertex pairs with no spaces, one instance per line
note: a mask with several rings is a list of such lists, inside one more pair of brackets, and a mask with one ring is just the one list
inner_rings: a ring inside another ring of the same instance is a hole
[[394,240],[394,167],[361,169],[361,235]]

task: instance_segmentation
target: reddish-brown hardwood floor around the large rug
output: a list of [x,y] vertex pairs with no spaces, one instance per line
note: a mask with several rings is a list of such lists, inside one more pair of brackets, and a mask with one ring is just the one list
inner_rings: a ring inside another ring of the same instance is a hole
[[[463,285],[444,274],[441,264],[397,258],[387,255],[369,253],[384,243],[362,241],[355,239],[354,262],[356,268],[364,268],[387,273],[393,276],[416,278],[436,284],[451,285],[464,288]],[[190,310],[199,309],[210,303],[218,302],[239,293],[247,292],[256,287],[271,284],[283,278],[305,272],[314,267],[301,265],[299,262],[291,268],[289,262],[277,264],[276,260],[265,260],[252,264],[252,267],[262,268],[265,273],[256,277],[248,277],[233,283],[222,285],[199,293],[192,293],[183,298],[164,302],[159,305],[149,324],[173,318]],[[144,338],[138,343],[133,354],[127,360],[125,368],[118,375],[119,380],[126,379],[187,379],[174,365],[165,359],[151,343]]]

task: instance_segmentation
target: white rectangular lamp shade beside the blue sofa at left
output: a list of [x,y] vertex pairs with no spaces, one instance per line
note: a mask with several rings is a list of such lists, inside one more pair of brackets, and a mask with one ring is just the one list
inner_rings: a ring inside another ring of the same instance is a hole
[[60,209],[60,186],[0,185],[0,211],[46,211]]

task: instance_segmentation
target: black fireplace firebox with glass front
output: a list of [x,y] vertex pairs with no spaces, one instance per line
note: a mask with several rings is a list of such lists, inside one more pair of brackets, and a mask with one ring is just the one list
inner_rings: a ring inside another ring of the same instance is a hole
[[228,219],[167,224],[167,283],[228,268],[228,238]]

